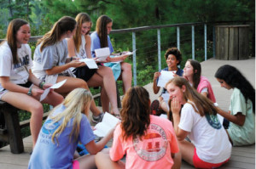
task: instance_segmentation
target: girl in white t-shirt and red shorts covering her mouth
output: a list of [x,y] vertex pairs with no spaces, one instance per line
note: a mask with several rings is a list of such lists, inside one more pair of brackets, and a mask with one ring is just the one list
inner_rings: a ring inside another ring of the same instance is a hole
[[195,168],[215,168],[229,161],[232,146],[212,101],[197,93],[183,77],[174,77],[166,89],[170,94],[168,117],[173,121],[183,160]]

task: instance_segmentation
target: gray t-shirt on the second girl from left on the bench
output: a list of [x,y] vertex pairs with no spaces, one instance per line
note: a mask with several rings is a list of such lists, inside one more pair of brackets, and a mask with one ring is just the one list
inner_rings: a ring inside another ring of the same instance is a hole
[[46,76],[45,70],[52,69],[56,65],[65,65],[67,59],[67,40],[56,42],[54,45],[45,47],[40,52],[41,43],[37,46],[34,53],[32,72],[40,79]]

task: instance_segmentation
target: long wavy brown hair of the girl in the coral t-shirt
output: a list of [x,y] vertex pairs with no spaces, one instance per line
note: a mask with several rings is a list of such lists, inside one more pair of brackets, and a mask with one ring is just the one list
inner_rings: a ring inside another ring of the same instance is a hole
[[143,87],[131,87],[122,102],[121,128],[123,138],[142,138],[150,124],[149,94]]

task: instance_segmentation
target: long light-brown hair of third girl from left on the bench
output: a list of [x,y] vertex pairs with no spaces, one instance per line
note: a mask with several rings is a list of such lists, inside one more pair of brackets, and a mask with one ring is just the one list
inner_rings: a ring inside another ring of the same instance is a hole
[[[82,25],[84,24],[84,22],[90,22],[90,16],[89,14],[86,13],[80,13],[76,16],[76,19],[78,27],[77,30],[75,32],[75,34],[73,35],[73,42],[76,48],[76,51],[79,53],[79,47],[81,45],[82,39],[81,39],[81,29],[82,29]],[[90,25],[91,26],[91,25]]]

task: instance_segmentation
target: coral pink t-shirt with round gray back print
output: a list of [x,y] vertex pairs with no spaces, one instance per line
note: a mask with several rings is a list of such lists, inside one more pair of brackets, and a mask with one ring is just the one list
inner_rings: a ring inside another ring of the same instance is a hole
[[125,168],[171,168],[171,153],[178,152],[177,138],[172,122],[159,116],[150,115],[150,125],[142,140],[122,138],[120,125],[113,133],[110,149],[112,161],[119,161],[126,155]]

